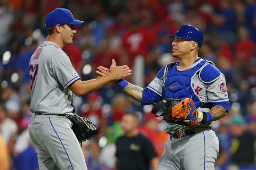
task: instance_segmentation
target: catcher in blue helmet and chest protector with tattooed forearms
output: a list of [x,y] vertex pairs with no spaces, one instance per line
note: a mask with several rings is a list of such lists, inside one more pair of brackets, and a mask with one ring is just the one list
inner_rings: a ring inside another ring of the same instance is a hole
[[[212,121],[229,112],[229,99],[224,75],[214,63],[198,57],[203,35],[192,25],[181,25],[173,35],[172,54],[180,62],[166,64],[150,84],[142,89],[124,79],[118,86],[143,105],[175,98],[191,98],[198,113],[197,124],[177,124],[165,120],[170,139],[166,142],[158,169],[214,169],[219,154],[219,140],[211,130]],[[99,66],[97,73],[109,69]],[[197,115],[197,114],[194,114]]]

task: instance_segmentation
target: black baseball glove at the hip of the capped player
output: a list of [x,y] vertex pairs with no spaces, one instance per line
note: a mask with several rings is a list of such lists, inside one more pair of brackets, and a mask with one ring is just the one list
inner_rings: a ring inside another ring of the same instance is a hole
[[87,117],[74,114],[68,115],[67,118],[73,123],[71,129],[79,142],[84,142],[86,139],[89,140],[98,133],[98,129],[95,128],[95,125]]

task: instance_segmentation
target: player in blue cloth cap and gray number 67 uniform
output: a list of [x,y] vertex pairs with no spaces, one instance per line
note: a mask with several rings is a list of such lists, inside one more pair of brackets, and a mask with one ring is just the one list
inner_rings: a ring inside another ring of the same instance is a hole
[[29,135],[36,147],[39,169],[87,169],[79,142],[65,115],[73,115],[74,94],[84,95],[109,81],[131,75],[127,66],[116,66],[104,77],[81,81],[62,48],[76,33],[72,13],[57,8],[46,16],[47,40],[30,58],[31,104]]

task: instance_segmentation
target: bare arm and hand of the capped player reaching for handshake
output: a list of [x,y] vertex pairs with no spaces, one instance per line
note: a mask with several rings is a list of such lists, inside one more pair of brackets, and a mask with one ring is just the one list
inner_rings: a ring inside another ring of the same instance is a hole
[[81,81],[77,80],[69,86],[69,89],[77,96],[82,96],[88,92],[95,91],[110,81],[123,79],[131,75],[132,71],[126,65],[116,66],[115,60],[112,61],[109,72],[97,79]]

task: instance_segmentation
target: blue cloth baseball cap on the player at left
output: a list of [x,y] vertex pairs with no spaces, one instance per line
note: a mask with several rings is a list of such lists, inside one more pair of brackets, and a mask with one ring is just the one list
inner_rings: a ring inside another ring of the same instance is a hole
[[71,11],[65,8],[56,8],[52,12],[50,12],[45,18],[45,26],[46,28],[54,27],[57,24],[81,24],[84,21],[75,20]]

